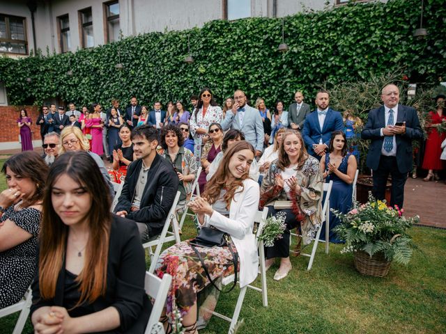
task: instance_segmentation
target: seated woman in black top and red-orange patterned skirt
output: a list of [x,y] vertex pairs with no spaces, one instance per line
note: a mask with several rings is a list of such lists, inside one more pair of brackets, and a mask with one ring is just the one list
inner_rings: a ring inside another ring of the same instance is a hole
[[119,128],[119,138],[122,143],[114,147],[113,150],[113,170],[109,171],[110,178],[113,182],[121,183],[127,175],[127,166],[134,160],[133,144],[130,140],[132,129],[126,123]]

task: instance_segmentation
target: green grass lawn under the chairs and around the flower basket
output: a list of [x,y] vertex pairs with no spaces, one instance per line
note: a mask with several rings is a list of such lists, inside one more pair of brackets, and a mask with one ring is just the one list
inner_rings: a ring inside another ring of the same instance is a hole
[[[4,186],[3,176],[0,177]],[[194,228],[186,221],[183,237]],[[352,255],[342,246],[320,244],[311,271],[307,257],[293,257],[293,270],[280,282],[272,280],[277,266],[267,273],[268,308],[261,294],[248,289],[240,312],[238,333],[446,333],[446,230],[413,228],[420,250],[407,267],[392,264],[385,278],[361,276]],[[260,278],[256,280],[260,285]],[[217,311],[229,315],[238,289],[221,294]],[[0,319],[0,334],[12,333],[12,315]],[[227,333],[229,323],[213,317],[200,333]],[[24,333],[31,333],[27,324]]]

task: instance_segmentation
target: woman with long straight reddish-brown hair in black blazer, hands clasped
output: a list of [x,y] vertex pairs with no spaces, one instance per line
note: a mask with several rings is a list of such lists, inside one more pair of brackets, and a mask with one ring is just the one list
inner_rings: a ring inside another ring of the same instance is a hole
[[144,333],[151,303],[137,225],[112,216],[111,198],[87,152],[62,154],[43,198],[35,333]]

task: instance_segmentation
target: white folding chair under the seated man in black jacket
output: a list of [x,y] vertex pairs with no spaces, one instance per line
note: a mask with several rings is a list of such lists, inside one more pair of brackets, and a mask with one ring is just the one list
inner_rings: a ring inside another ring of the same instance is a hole
[[[176,221],[175,209],[178,204],[178,199],[180,198],[180,192],[176,192],[174,204],[172,204],[169,214],[167,214],[166,222],[164,223],[164,228],[160,235],[153,237],[151,240],[143,244],[144,248],[148,248],[149,255],[151,256],[151,267],[148,269],[149,273],[155,271],[156,262],[158,257],[160,257],[162,245],[169,241],[180,242],[180,233],[178,228],[178,221]],[[172,232],[169,232],[169,226],[172,226]],[[152,247],[156,246],[155,253],[152,251]]]

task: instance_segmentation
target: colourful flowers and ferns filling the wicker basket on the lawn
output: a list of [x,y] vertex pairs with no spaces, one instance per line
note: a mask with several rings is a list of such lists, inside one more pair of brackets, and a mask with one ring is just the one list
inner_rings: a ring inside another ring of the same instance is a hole
[[[358,203],[356,203],[358,204]],[[364,251],[370,257],[383,253],[385,260],[408,264],[415,248],[407,233],[419,216],[406,218],[397,205],[388,207],[385,200],[375,200],[369,193],[369,201],[347,214],[333,210],[341,223],[334,229],[346,241],[341,253]]]

